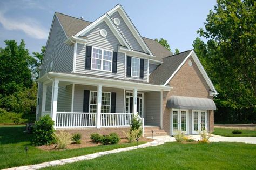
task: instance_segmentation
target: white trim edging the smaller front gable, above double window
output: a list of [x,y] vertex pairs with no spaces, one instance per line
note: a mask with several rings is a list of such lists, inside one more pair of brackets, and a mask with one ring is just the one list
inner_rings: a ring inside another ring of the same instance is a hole
[[125,41],[124,37],[121,35],[121,33],[118,31],[118,29],[116,28],[116,26],[114,26],[113,22],[111,21],[109,15],[107,15],[107,13],[105,13],[103,16],[99,17],[98,19],[96,19],[95,22],[91,23],[90,25],[86,26],[86,28],[84,28],[83,30],[81,30],[80,32],[78,32],[75,37],[78,36],[83,36],[85,35],[85,33],[91,31],[93,28],[95,28],[95,26],[97,26],[98,24],[102,23],[103,21],[106,22],[107,26],[109,26],[110,30],[113,32],[114,36],[116,36],[116,38],[118,39],[118,41],[123,45],[126,46],[128,49],[131,49],[130,46],[127,44],[127,42]]

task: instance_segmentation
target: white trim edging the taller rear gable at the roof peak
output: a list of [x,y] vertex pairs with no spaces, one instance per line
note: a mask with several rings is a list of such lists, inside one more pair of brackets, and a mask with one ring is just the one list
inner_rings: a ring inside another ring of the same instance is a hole
[[148,52],[151,56],[153,56],[152,52],[150,51],[149,47],[146,45],[144,40],[142,39],[142,36],[139,35],[138,30],[133,25],[131,19],[129,16],[127,16],[126,12],[124,11],[122,5],[118,4],[113,9],[111,9],[109,12],[107,12],[108,15],[112,15],[114,12],[118,11],[120,16],[124,19],[125,24],[128,26],[130,31],[132,32],[133,36],[136,38],[139,45],[142,47],[144,52]]

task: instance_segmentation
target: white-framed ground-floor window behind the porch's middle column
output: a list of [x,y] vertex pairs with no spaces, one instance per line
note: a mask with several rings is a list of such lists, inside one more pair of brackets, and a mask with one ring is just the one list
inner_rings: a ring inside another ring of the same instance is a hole
[[[102,113],[110,113],[110,101],[111,101],[111,93],[110,92],[102,92]],[[90,92],[90,113],[97,112],[97,92]]]

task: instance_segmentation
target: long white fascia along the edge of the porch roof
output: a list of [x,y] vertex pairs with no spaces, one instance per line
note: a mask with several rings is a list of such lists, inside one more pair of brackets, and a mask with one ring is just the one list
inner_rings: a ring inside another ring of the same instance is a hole
[[[172,89],[172,87],[169,87],[169,86],[144,84],[144,83],[137,83],[133,81],[122,81],[122,80],[105,79],[105,78],[98,78],[98,77],[89,77],[89,76],[67,74],[67,73],[49,72],[47,74],[51,78],[57,78],[59,81],[67,81],[70,83],[97,85],[100,82],[100,84],[106,87],[116,87],[121,89],[123,88],[133,89],[136,87],[137,89],[140,89],[140,90],[149,90],[149,91],[170,91]],[[44,82],[46,80],[48,80],[46,74],[43,77],[38,79],[39,82]]]

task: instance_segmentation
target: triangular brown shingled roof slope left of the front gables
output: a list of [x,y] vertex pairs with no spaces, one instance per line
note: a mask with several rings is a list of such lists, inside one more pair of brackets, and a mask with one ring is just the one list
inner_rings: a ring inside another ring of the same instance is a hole
[[73,36],[76,35],[79,31],[83,30],[86,26],[90,25],[92,22],[85,21],[83,19],[78,19],[65,15],[63,13],[55,13],[59,19],[60,24],[62,25],[66,35]]

